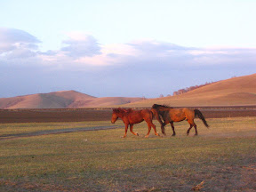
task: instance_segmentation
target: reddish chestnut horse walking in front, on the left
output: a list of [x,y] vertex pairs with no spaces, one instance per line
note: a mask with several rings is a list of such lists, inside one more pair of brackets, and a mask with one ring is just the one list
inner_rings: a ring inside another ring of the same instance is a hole
[[156,132],[156,125],[152,123],[153,113],[149,109],[132,110],[132,109],[124,109],[124,108],[114,108],[111,123],[115,124],[118,117],[122,118],[125,124],[125,132],[123,136],[124,138],[126,137],[126,134],[127,134],[128,125],[130,125],[130,132],[132,132],[132,134],[134,135],[139,136],[137,132],[132,131],[133,124],[139,124],[144,120],[148,124],[148,134],[145,137],[148,137],[151,127],[153,127],[155,134],[159,136],[159,134]]

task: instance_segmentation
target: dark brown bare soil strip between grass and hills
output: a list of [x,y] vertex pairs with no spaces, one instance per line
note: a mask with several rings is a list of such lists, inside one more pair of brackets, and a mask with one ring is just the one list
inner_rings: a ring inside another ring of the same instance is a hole
[[[205,118],[256,116],[256,107],[199,108]],[[111,109],[0,109],[0,124],[109,121]]]

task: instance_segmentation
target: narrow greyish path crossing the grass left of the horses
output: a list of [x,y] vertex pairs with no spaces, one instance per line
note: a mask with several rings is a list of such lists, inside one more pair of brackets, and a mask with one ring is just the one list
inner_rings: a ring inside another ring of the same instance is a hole
[[99,130],[108,130],[116,129],[117,125],[112,126],[93,126],[93,127],[82,127],[82,128],[68,128],[68,129],[57,129],[57,130],[43,130],[38,132],[23,132],[18,134],[4,134],[0,135],[0,140],[12,140],[22,137],[33,137],[39,135],[49,135],[49,134],[60,134],[60,133],[69,133],[69,132],[87,132],[87,131],[99,131]]

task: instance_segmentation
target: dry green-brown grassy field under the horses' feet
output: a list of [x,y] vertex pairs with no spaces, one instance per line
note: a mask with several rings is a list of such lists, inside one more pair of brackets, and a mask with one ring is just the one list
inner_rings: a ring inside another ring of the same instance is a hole
[[[140,136],[114,130],[16,137],[12,134],[92,126],[83,123],[0,124],[0,191],[256,191],[256,117],[196,120],[170,125],[156,137],[147,124],[133,128]],[[156,123],[157,131],[160,126]],[[8,138],[1,135],[8,134]]]

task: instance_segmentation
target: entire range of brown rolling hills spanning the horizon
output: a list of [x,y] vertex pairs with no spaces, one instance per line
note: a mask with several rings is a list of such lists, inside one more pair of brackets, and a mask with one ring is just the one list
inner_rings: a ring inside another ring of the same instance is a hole
[[172,107],[256,105],[256,74],[233,77],[181,95],[145,100],[143,98],[96,98],[75,91],[38,93],[0,98],[0,108],[148,108],[154,103]]

